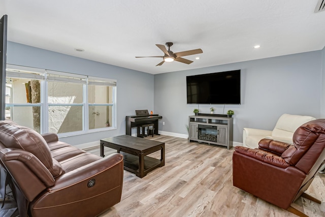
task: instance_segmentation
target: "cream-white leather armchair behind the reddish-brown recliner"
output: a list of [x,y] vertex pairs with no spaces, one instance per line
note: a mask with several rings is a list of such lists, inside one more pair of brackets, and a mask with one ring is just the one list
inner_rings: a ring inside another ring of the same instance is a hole
[[314,119],[311,116],[282,114],[273,131],[244,128],[243,146],[258,148],[258,142],[264,138],[293,144],[294,132],[304,123]]

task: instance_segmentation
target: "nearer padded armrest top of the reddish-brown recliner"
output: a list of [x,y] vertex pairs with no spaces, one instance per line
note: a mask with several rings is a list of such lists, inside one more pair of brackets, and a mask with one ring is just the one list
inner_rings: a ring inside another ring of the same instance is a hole
[[271,164],[276,167],[287,168],[288,166],[290,166],[281,157],[276,156],[269,152],[265,152],[263,150],[251,149],[251,148],[247,148],[247,147],[243,147],[243,146],[236,146],[235,151],[238,153],[244,154],[245,156],[254,158],[258,161],[262,161],[267,164]]

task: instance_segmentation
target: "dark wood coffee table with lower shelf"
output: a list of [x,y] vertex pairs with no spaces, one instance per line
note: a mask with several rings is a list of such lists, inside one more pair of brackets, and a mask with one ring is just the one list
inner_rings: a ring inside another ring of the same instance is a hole
[[[105,157],[104,146],[116,149],[118,153],[123,154],[124,169],[135,173],[140,178],[155,168],[165,165],[165,142],[121,135],[101,139],[100,143],[102,157]],[[159,150],[160,159],[147,156]]]

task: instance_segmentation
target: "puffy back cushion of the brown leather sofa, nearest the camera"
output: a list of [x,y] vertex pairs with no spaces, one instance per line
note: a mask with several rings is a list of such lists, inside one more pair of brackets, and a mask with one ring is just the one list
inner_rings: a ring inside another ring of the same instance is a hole
[[19,148],[34,154],[50,171],[53,177],[63,173],[52,155],[44,138],[36,131],[16,125],[11,120],[0,121],[0,142],[8,148]]

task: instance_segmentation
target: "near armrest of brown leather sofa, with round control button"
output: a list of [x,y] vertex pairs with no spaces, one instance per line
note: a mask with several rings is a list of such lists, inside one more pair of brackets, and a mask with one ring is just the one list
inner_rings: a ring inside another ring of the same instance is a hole
[[[34,209],[49,206],[59,209],[64,204],[76,201],[88,201],[89,206],[103,202],[114,205],[121,199],[122,185],[123,156],[114,153],[57,177],[55,184],[35,200],[35,205],[32,206]],[[102,201],[107,194],[111,198]]]

